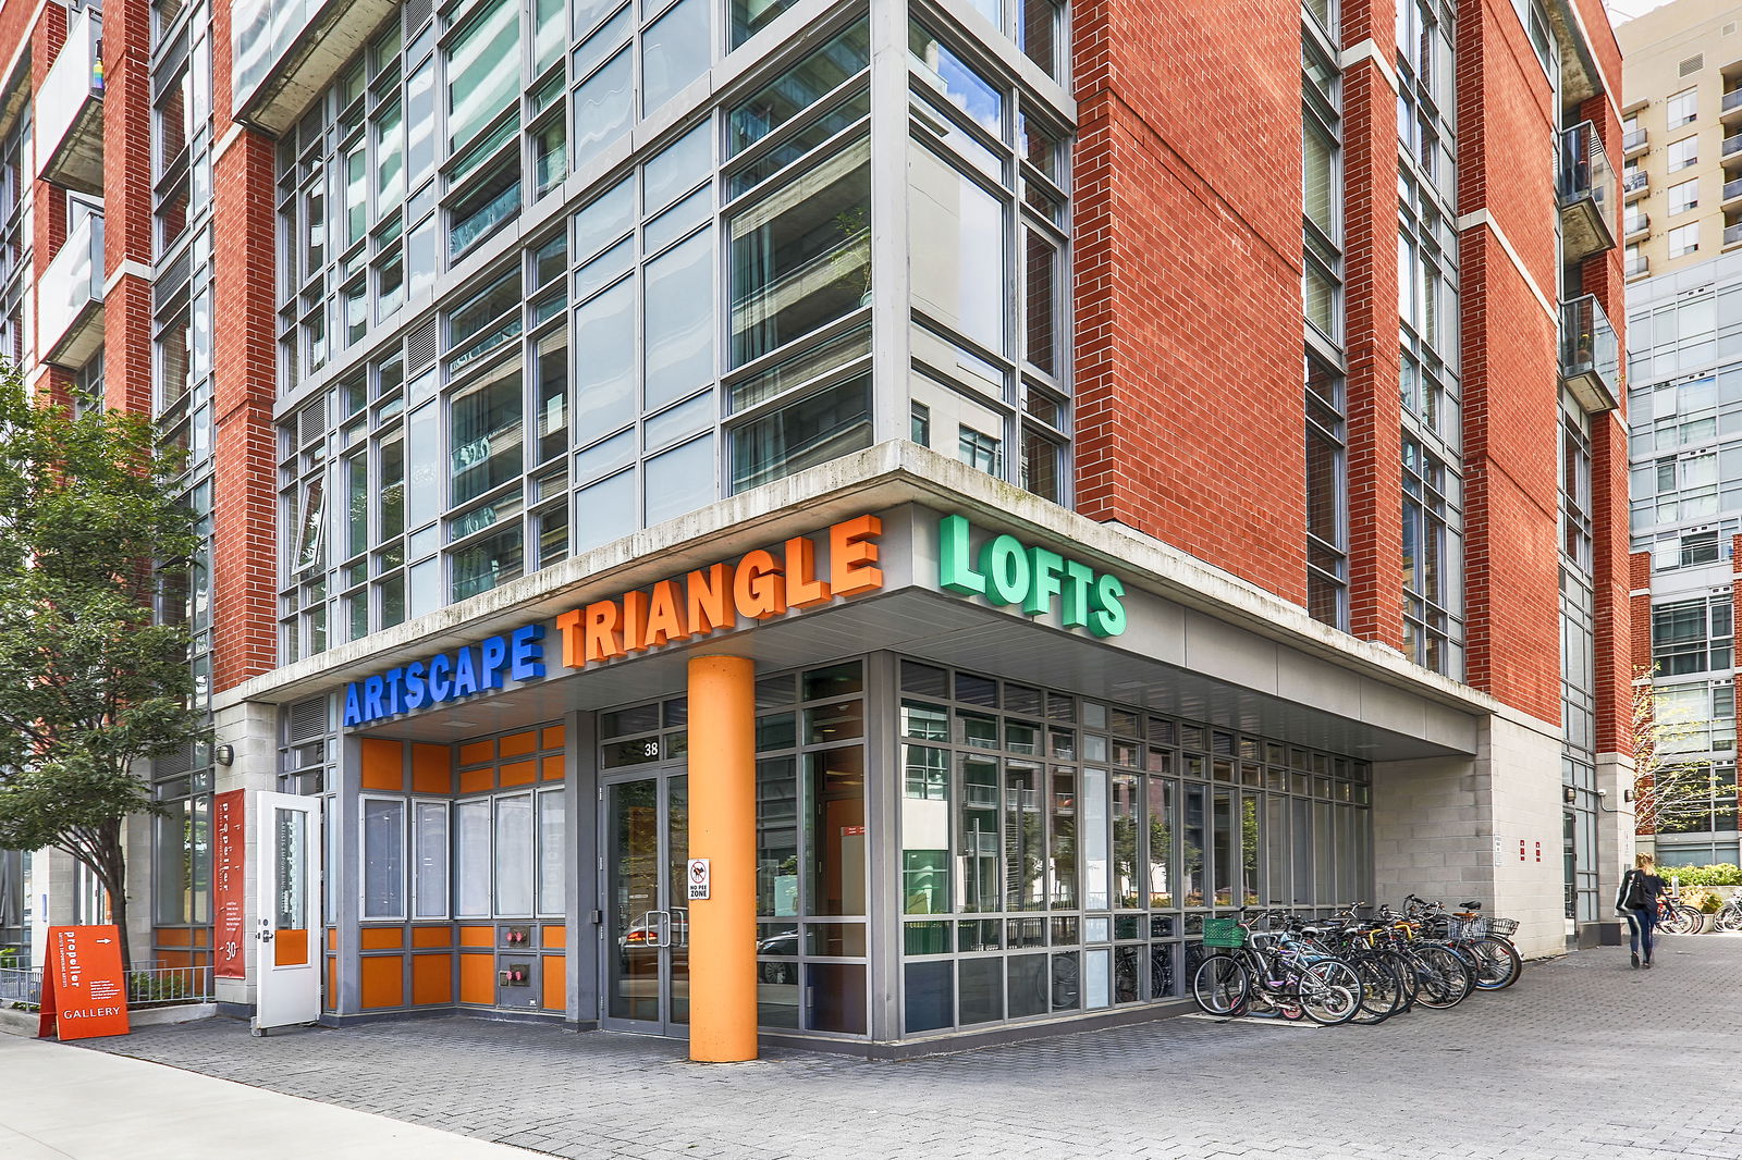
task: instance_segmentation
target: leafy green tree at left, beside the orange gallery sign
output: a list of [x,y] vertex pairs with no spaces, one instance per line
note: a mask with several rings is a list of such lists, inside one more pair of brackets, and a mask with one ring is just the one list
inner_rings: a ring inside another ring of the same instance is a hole
[[207,740],[188,634],[153,624],[199,538],[181,456],[120,411],[73,415],[0,368],[0,850],[84,862],[127,944],[122,826],[141,763]]

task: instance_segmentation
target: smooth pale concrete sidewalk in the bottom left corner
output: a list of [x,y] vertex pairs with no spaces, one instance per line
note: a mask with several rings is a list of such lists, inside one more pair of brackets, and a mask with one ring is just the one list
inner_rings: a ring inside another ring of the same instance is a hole
[[143,1059],[0,1035],[0,1157],[7,1160],[526,1160],[530,1155]]

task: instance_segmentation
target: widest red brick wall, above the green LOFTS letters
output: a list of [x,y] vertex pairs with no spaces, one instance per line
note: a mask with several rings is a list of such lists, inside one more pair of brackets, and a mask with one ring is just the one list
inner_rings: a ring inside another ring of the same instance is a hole
[[1300,9],[1073,24],[1077,505],[1305,601]]

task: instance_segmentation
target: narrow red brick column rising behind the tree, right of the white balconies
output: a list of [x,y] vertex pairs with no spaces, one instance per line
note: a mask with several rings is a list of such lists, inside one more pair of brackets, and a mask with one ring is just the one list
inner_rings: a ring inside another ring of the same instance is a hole
[[[103,12],[103,258],[152,263],[152,14],[145,3]],[[124,273],[103,300],[103,380],[111,408],[152,409],[152,286]]]

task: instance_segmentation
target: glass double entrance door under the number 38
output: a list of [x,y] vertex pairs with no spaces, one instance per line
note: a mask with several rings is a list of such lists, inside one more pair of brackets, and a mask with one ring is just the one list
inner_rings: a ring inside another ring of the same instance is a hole
[[604,786],[604,1026],[688,1035],[688,779]]

